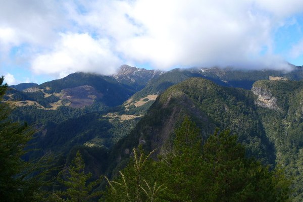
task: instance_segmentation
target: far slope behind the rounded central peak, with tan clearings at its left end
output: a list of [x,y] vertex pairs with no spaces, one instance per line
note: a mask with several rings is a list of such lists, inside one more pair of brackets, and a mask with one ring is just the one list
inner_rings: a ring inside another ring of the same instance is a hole
[[258,80],[299,80],[303,79],[303,73],[302,68],[296,66],[292,66],[292,71],[188,68],[163,72],[159,76],[151,78],[147,85],[132,95],[118,111],[110,112],[107,115],[110,120],[119,125],[120,130],[114,130],[115,136],[122,137],[123,135],[117,133],[128,133],[128,126],[134,126],[142,118],[160,93],[191,77],[206,78],[221,86],[250,90],[252,84]]

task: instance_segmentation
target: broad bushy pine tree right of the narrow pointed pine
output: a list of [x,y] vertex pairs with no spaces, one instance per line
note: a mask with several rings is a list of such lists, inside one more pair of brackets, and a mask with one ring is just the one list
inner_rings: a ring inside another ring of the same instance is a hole
[[254,158],[229,130],[216,130],[203,146],[209,201],[289,201],[290,181]]

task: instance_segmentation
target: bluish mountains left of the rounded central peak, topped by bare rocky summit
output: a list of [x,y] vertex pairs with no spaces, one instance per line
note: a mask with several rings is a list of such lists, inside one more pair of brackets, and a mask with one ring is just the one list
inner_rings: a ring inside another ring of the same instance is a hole
[[113,76],[78,72],[23,91],[10,89],[6,99],[17,100],[14,120],[35,124],[38,129],[34,148],[67,155],[76,145],[109,148],[125,136],[137,123],[136,116],[129,106],[128,114],[117,119],[113,113],[125,107],[115,107],[159,74],[129,66],[122,66]]

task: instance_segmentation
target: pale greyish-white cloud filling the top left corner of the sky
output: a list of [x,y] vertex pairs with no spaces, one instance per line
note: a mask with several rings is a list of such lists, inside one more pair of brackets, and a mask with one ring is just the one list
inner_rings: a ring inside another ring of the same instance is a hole
[[12,33],[0,42],[49,45],[56,39],[56,29],[67,26],[61,11],[51,0],[0,1],[0,29]]

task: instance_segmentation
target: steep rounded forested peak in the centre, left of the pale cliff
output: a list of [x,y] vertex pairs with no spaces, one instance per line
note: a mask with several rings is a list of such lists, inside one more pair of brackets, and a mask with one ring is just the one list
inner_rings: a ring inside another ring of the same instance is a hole
[[190,78],[163,92],[129,136],[118,142],[116,149],[127,156],[138,144],[158,153],[171,145],[174,130],[188,115],[201,128],[206,139],[215,128],[229,128],[247,146],[247,155],[274,165],[273,144],[266,137],[251,91],[222,87],[203,78]]

